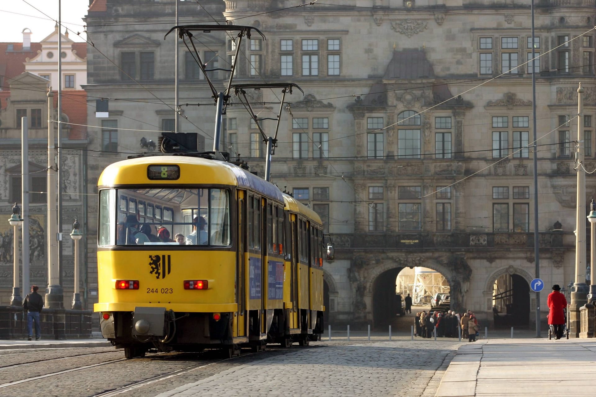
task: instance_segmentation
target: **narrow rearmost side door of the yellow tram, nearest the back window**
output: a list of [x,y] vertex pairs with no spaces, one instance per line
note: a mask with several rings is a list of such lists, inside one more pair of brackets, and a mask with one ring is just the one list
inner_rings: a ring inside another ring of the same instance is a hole
[[246,192],[238,190],[238,257],[236,260],[236,303],[234,336],[246,336],[248,314],[246,312]]

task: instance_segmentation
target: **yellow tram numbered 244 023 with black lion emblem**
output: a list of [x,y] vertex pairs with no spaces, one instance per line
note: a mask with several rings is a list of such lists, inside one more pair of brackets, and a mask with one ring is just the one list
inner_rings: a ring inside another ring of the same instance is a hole
[[321,219],[277,186],[209,155],[144,155],[98,189],[94,310],[126,358],[322,333]]

